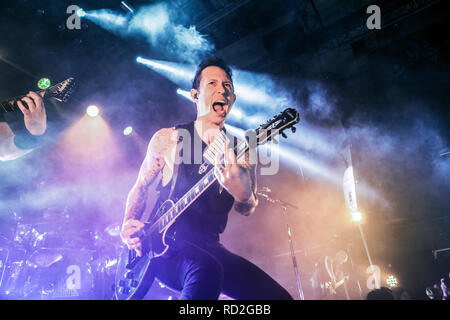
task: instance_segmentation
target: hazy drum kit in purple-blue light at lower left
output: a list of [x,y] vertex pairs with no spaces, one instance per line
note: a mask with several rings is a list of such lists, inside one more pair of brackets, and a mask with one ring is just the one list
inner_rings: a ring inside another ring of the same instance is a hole
[[118,223],[73,227],[67,207],[47,208],[39,221],[14,213],[0,233],[0,299],[109,300],[122,249]]

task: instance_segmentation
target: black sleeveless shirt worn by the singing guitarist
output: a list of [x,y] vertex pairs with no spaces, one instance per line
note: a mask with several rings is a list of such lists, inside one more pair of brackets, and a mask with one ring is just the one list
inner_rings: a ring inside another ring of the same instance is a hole
[[[201,144],[202,154],[207,147],[195,130],[194,122],[181,124],[176,128],[183,128],[190,133],[191,139],[183,140],[181,152],[183,153],[186,148],[191,148],[191,161],[189,163],[181,162],[178,167],[178,175],[171,197],[174,202],[205,175],[205,173],[203,175],[198,173],[201,163],[194,163],[194,146]],[[212,168],[213,166],[208,166],[208,170]],[[157,208],[168,198],[172,183],[173,179],[166,186],[162,186],[162,181],[160,182]],[[225,230],[227,225],[228,213],[233,203],[233,196],[225,188],[221,188],[218,181],[215,181],[177,218],[170,230],[175,231],[174,237],[177,240],[189,240],[198,244],[205,241],[218,241],[219,234]]]

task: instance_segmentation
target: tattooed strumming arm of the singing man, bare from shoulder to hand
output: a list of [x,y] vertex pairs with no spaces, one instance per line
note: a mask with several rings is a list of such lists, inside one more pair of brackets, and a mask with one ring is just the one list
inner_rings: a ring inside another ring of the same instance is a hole
[[142,243],[141,239],[136,237],[135,234],[144,227],[144,223],[139,219],[145,211],[150,185],[166,165],[165,155],[173,146],[172,134],[174,131],[174,128],[166,128],[154,134],[148,145],[147,154],[142,162],[136,183],[128,193],[120,237],[128,246],[128,249],[135,249],[139,255],[142,255]]

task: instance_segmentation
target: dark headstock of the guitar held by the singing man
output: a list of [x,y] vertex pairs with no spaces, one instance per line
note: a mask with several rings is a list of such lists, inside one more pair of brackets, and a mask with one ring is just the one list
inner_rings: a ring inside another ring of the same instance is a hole
[[294,127],[300,121],[298,111],[293,108],[287,108],[278,115],[267,121],[265,124],[256,129],[257,144],[262,145],[272,140],[276,135],[281,134],[283,138],[287,138],[285,130],[291,129],[295,132]]

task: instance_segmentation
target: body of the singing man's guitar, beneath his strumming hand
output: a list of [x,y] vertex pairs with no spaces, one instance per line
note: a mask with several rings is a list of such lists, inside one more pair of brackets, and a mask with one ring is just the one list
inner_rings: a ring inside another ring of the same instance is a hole
[[[156,212],[155,219],[163,216],[173,207],[173,204],[173,201],[166,200]],[[164,230],[154,230],[143,239],[142,257],[139,257],[134,250],[128,250],[128,248],[122,250],[117,263],[114,285],[117,300],[139,300],[146,295],[155,278],[151,270],[152,260],[161,257],[169,249],[168,239],[173,237],[171,232],[173,222]]]

